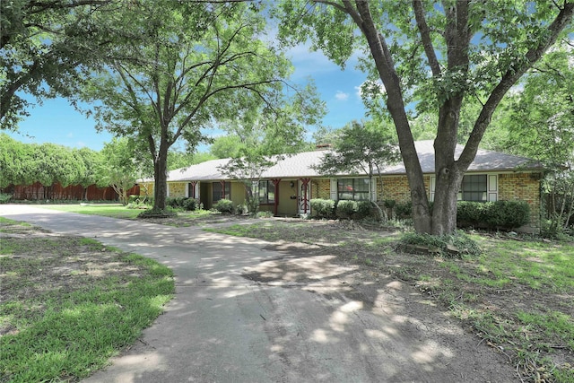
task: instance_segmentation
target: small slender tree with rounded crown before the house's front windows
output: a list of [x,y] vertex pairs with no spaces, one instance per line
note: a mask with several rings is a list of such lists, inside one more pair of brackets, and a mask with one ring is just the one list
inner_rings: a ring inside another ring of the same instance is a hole
[[[335,139],[332,152],[326,152],[317,166],[322,174],[366,174],[369,176],[369,200],[373,201],[372,178],[374,171],[399,161],[400,154],[393,144],[393,135],[384,124],[373,121],[344,126]],[[376,207],[378,205],[373,204]],[[380,209],[380,208],[378,208]],[[379,210],[381,217],[384,214]]]

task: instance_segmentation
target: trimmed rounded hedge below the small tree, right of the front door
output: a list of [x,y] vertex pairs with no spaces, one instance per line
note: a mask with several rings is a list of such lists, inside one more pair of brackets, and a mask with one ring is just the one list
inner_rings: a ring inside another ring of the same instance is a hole
[[311,217],[317,219],[361,220],[370,215],[369,201],[311,199]]

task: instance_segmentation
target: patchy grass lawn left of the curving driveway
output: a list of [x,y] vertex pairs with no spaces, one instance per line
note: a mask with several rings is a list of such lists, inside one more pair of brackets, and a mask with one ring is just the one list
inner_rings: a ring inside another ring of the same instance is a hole
[[174,293],[152,259],[0,219],[0,381],[78,381],[150,326]]

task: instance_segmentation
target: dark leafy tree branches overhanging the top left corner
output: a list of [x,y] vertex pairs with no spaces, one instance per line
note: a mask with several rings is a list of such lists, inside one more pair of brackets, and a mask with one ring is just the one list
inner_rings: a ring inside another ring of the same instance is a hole
[[[0,128],[15,130],[29,101],[71,97],[95,49],[110,41],[94,22],[119,0],[11,0],[0,2]],[[104,12],[105,11],[105,12]],[[105,26],[106,32],[113,25]],[[117,26],[115,27],[117,29]]]

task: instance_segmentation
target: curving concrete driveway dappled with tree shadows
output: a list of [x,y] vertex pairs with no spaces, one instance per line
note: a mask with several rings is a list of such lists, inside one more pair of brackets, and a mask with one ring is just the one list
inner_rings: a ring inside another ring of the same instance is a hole
[[[197,228],[30,205],[0,205],[0,215],[152,257],[176,274],[177,295],[165,313],[86,382],[517,381],[506,356],[404,283],[383,281],[376,297],[363,299],[344,285],[352,265],[285,259],[264,241]],[[242,276],[286,262],[328,278]]]

